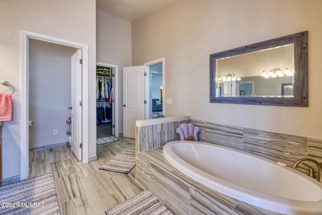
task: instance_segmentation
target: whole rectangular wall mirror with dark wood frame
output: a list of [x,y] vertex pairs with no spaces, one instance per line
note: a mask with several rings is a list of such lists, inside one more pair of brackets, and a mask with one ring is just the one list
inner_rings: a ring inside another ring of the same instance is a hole
[[210,54],[211,103],[307,107],[307,88],[307,31]]

